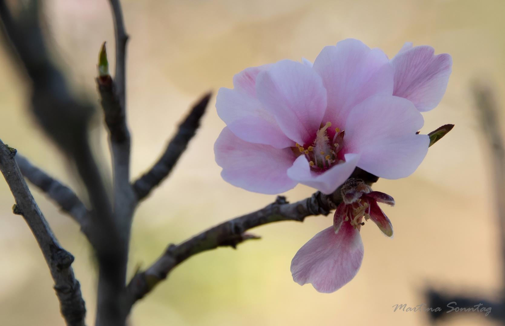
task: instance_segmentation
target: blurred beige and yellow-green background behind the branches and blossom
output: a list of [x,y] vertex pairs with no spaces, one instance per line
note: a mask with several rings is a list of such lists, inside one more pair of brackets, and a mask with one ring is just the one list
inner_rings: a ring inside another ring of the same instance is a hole
[[[114,34],[107,0],[47,0],[44,12],[55,59],[75,93],[97,103],[97,54]],[[133,138],[132,177],[164,150],[187,108],[208,90],[232,87],[234,74],[283,58],[313,61],[326,45],[352,37],[394,56],[404,42],[428,44],[453,58],[440,105],[423,113],[428,133],[455,128],[430,148],[418,170],[374,189],[396,200],[383,207],[394,239],[372,223],[361,230],[365,256],[358,275],[332,294],[300,287],[289,266],[295,252],[332,223],[310,217],[255,229],[263,239],[237,250],[193,256],[138,302],[131,325],[427,325],[425,312],[393,312],[395,304],[427,303],[427,286],[493,298],[502,286],[502,258],[484,141],[470,83],[484,78],[498,105],[505,91],[505,3],[500,0],[124,0],[130,34],[128,123]],[[111,59],[111,61],[113,61]],[[113,64],[113,62],[111,62]],[[112,68],[112,67],[111,67]],[[112,71],[114,71],[112,69]],[[34,164],[83,194],[61,153],[27,110],[28,85],[0,48],[0,137]],[[208,113],[172,175],[140,205],[133,225],[130,275],[147,267],[170,242],[180,242],[226,219],[257,210],[275,197],[224,182],[213,144],[224,123],[211,100]],[[505,108],[505,106],[502,106]],[[500,111],[500,120],[505,112]],[[107,135],[94,125],[97,156],[110,174]],[[94,320],[95,263],[90,246],[69,217],[31,188],[63,246],[76,259],[89,324]],[[310,196],[298,185],[289,201]],[[53,281],[14,199],[0,180],[0,324],[64,325]],[[459,313],[445,325],[492,325],[483,314]]]

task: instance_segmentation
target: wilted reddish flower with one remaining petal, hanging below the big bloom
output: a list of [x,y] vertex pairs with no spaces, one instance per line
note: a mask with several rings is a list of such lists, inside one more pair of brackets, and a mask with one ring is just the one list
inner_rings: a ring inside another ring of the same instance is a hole
[[393,198],[383,192],[372,191],[360,179],[350,178],[342,186],[343,202],[329,227],[304,244],[291,261],[293,280],[304,285],[312,283],[319,292],[331,293],[355,277],[363,260],[363,242],[360,228],[363,219],[374,221],[388,237],[393,227],[377,205],[393,206]]

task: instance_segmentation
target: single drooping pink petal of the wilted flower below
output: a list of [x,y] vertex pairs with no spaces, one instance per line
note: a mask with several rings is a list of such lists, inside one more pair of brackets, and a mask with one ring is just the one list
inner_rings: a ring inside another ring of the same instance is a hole
[[343,223],[335,234],[324,229],[304,244],[291,260],[291,274],[299,285],[312,283],[318,292],[331,293],[356,276],[363,260],[360,232]]

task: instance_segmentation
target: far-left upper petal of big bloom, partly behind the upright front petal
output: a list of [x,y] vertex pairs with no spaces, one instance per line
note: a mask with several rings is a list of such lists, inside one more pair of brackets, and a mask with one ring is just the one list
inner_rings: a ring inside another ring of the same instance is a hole
[[294,146],[284,135],[272,113],[265,110],[256,97],[256,77],[271,67],[247,68],[233,77],[233,89],[220,88],[216,99],[219,117],[240,139],[275,148]]

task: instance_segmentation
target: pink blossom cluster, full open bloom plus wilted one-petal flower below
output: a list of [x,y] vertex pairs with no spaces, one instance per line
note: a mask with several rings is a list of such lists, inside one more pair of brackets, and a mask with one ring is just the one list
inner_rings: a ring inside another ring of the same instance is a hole
[[[380,49],[346,39],[323,48],[314,64],[286,59],[247,68],[234,76],[233,89],[221,88],[217,96],[227,125],[214,146],[221,176],[268,194],[297,183],[329,194],[356,167],[387,179],[409,176],[430,143],[417,133],[424,124],[420,111],[438,105],[451,66],[450,55],[434,55],[430,46],[406,43],[389,60]],[[357,274],[363,218],[393,234],[377,206],[394,204],[392,198],[366,184],[347,185],[334,226],[292,260],[294,281],[320,292],[336,291]]]

